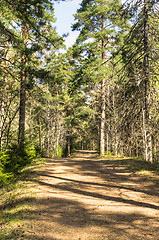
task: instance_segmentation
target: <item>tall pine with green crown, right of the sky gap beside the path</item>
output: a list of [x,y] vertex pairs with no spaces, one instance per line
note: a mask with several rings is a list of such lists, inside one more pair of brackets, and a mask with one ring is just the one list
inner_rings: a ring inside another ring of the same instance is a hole
[[[76,44],[80,46],[83,57],[82,72],[89,81],[101,82],[100,116],[100,154],[105,152],[105,99],[108,91],[108,64],[118,25],[116,13],[120,9],[119,1],[82,1],[81,8],[75,14],[73,30],[79,30]],[[76,47],[79,49],[79,47]],[[98,76],[97,76],[98,75]],[[88,81],[88,80],[87,80]]]

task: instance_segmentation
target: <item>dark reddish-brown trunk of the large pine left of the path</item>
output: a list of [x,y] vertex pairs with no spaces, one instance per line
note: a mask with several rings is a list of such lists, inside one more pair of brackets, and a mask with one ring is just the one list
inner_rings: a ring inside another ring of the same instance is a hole
[[[27,43],[27,26],[24,25],[22,27],[22,36],[24,39],[24,46]],[[24,140],[25,140],[25,103],[26,103],[26,54],[25,50],[22,53],[21,58],[21,81],[20,81],[20,108],[19,108],[19,136],[18,142],[20,146],[20,150],[24,150]]]

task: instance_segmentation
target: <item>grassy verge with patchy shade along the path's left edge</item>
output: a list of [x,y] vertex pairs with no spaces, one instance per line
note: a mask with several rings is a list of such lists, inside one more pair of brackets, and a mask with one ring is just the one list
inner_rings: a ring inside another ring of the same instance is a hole
[[0,188],[0,239],[16,240],[25,236],[28,213],[33,211],[35,200],[34,179],[36,170],[44,164],[44,160],[35,159],[23,168],[19,176],[9,185]]

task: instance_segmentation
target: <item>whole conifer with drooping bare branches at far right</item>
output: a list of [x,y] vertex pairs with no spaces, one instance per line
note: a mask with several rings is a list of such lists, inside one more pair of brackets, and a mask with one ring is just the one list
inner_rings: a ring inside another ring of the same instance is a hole
[[[156,41],[157,41],[157,3],[155,1],[128,2],[126,10],[132,16],[132,28],[125,38],[122,48],[123,60],[127,69],[127,86],[134,87],[131,102],[138,106],[138,116],[142,121],[144,142],[144,158],[153,161],[153,135],[152,135],[152,93],[153,85],[157,80],[156,69]],[[127,90],[126,90],[127,91]],[[143,101],[144,100],[144,101]],[[136,101],[136,102],[137,102]],[[135,111],[134,111],[135,113]],[[136,114],[136,113],[135,113]],[[132,115],[133,116],[133,115]],[[137,116],[137,115],[136,115]],[[156,127],[155,127],[156,128]],[[140,131],[138,129],[138,131]]]

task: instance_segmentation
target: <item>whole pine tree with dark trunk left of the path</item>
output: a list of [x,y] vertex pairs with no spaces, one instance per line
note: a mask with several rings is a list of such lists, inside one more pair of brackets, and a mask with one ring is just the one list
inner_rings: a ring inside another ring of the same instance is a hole
[[30,81],[30,70],[32,73],[35,70],[35,76],[37,74],[35,64],[30,66],[32,56],[33,54],[40,56],[52,46],[58,48],[63,42],[52,27],[54,22],[51,1],[2,1],[1,31],[20,54],[19,145],[21,148],[25,140],[27,81]]

